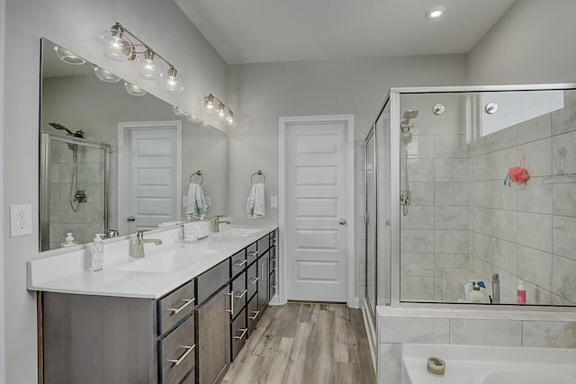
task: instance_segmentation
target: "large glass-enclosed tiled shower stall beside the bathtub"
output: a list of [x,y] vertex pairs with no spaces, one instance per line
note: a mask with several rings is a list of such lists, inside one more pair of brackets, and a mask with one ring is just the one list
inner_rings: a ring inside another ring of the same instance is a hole
[[576,305],[576,85],[394,88],[365,147],[373,316],[473,281],[487,305],[519,281],[527,305]]

